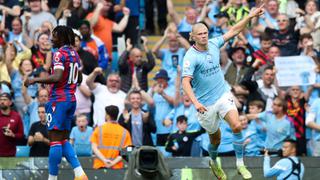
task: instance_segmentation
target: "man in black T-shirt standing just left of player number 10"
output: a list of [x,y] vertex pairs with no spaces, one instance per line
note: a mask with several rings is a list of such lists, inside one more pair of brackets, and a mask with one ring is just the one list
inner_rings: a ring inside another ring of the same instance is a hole
[[[28,135],[28,145],[31,157],[48,157],[50,140],[48,139],[48,128],[46,120],[46,110],[43,104],[38,106],[39,121],[32,123]],[[32,117],[33,118],[33,117]]]

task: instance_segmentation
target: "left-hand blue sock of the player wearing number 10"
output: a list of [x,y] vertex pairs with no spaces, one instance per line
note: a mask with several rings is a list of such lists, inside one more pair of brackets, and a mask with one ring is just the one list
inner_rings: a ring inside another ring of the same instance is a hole
[[59,164],[62,158],[61,142],[51,142],[49,150],[49,174],[53,176],[58,175]]

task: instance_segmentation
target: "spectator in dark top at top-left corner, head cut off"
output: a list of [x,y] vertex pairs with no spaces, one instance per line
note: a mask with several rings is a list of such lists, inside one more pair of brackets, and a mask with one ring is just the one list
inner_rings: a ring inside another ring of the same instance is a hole
[[3,12],[8,13],[8,18],[5,23],[5,28],[11,30],[11,22],[14,17],[18,17],[21,13],[21,8],[19,6],[19,1],[18,0],[4,0],[1,1],[0,3],[0,12],[2,16],[5,16]]

